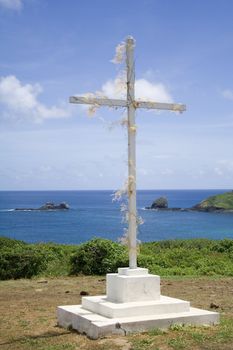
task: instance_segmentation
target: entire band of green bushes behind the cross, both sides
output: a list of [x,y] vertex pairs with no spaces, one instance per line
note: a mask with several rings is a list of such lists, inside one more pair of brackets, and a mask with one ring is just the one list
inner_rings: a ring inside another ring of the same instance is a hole
[[[127,266],[127,249],[95,238],[80,245],[28,244],[0,237],[0,279],[104,275]],[[140,245],[138,265],[161,276],[233,276],[233,240],[166,240]]]

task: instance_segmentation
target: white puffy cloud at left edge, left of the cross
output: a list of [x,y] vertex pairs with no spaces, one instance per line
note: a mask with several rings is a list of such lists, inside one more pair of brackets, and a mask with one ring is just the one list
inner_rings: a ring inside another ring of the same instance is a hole
[[28,119],[36,122],[49,118],[64,118],[69,111],[61,107],[47,107],[38,100],[40,84],[22,84],[15,76],[0,78],[0,105],[6,119]]

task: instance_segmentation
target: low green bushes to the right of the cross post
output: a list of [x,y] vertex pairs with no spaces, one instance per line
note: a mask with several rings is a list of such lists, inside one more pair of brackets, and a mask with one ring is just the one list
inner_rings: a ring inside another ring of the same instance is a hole
[[167,240],[141,245],[139,265],[161,276],[233,276],[233,240]]

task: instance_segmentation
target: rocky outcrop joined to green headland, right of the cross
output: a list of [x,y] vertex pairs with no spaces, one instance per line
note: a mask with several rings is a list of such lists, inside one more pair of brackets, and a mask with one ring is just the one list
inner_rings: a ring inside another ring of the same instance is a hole
[[191,208],[169,208],[166,197],[159,197],[145,209],[166,211],[233,212],[233,191],[217,194],[204,199]]

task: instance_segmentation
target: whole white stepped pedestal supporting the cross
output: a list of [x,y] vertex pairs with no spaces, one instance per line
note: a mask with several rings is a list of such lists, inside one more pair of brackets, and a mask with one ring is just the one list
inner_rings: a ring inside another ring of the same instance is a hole
[[160,277],[147,269],[119,268],[107,275],[107,293],[83,297],[81,305],[59,306],[58,324],[97,339],[106,334],[166,329],[172,324],[212,325],[219,314],[160,295]]

